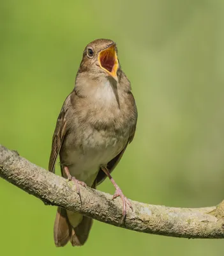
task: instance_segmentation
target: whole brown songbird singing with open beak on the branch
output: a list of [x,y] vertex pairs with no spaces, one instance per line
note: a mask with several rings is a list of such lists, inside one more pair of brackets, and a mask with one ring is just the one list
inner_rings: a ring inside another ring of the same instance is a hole
[[[88,44],[75,80],[75,88],[64,101],[52,139],[49,171],[54,172],[59,154],[61,174],[77,186],[96,188],[108,176],[121,196],[123,217],[131,204],[110,173],[133,140],[137,108],[130,81],[121,70],[112,40]],[[54,242],[64,246],[84,244],[93,219],[58,207]]]

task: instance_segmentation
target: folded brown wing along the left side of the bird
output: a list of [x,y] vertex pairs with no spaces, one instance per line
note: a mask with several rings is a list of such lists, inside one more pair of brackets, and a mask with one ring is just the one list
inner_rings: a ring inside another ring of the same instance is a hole
[[64,104],[61,108],[61,112],[57,118],[56,129],[54,130],[54,135],[52,138],[52,149],[50,152],[50,159],[49,159],[49,171],[55,172],[55,165],[57,156],[61,149],[61,145],[63,144],[64,136],[67,132],[67,122],[66,122],[66,113],[68,111],[68,102],[70,100],[70,95],[64,100]]

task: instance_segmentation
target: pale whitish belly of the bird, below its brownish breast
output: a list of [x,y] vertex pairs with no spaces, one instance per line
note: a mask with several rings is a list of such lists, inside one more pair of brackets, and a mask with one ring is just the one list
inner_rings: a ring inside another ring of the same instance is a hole
[[[124,134],[123,134],[124,135]],[[101,165],[116,157],[128,141],[127,136],[103,136],[98,132],[82,140],[82,148],[68,145],[61,164],[68,166],[71,176],[92,186]],[[76,144],[77,145],[77,144]]]

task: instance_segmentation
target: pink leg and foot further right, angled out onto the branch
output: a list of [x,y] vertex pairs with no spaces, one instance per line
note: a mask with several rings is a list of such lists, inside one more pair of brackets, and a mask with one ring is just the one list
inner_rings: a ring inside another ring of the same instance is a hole
[[128,200],[128,198],[126,198],[126,196],[124,196],[124,194],[123,194],[122,190],[119,188],[119,186],[117,186],[116,182],[114,181],[114,179],[112,178],[112,176],[108,172],[107,167],[101,166],[101,170],[103,170],[103,172],[105,172],[107,177],[110,179],[110,181],[114,185],[114,188],[116,188],[116,191],[115,191],[114,196],[113,196],[112,199],[117,198],[118,196],[121,197],[121,200],[123,202],[123,220],[124,220],[126,218],[126,205],[128,205],[131,208],[132,211],[133,211],[133,207],[132,207],[130,201]]

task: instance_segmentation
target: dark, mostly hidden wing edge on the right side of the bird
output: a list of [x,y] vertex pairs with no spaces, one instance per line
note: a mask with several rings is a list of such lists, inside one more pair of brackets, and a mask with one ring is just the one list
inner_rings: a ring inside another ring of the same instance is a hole
[[[134,100],[131,92],[130,92],[130,96],[131,96],[130,100],[132,100],[134,102],[135,100]],[[117,164],[119,163],[119,161],[121,160],[121,157],[124,154],[124,151],[126,150],[126,147],[128,146],[129,143],[131,143],[131,141],[133,140],[133,138],[135,136],[135,129],[136,129],[136,124],[137,124],[137,109],[135,109],[135,111],[136,111],[136,122],[135,122],[135,125],[133,125],[133,127],[131,129],[130,136],[128,138],[128,142],[126,143],[123,150],[121,150],[121,152],[116,157],[114,157],[112,160],[110,160],[110,162],[107,164],[107,170],[110,173],[114,170],[114,168],[116,168]],[[103,182],[103,180],[105,180],[106,177],[107,177],[107,175],[100,168],[98,175],[96,176],[96,184],[100,185],[100,183]]]

